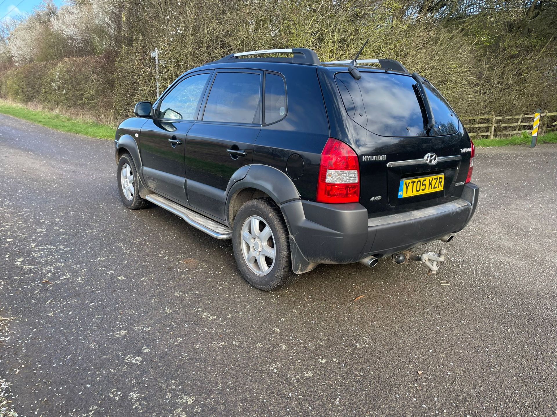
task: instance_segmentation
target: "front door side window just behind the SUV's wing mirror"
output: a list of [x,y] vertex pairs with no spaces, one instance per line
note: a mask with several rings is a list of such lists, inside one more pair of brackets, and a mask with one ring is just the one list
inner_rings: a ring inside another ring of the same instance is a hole
[[174,120],[193,120],[209,75],[193,75],[180,81],[160,103],[158,117]]

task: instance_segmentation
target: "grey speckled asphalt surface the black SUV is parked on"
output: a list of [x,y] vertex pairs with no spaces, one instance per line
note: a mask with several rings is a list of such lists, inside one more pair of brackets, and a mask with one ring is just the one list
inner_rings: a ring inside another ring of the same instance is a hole
[[321,265],[271,293],[241,279],[229,241],[126,209],[113,146],[0,115],[12,411],[557,414],[557,146],[477,152],[471,224],[422,247],[447,248],[437,275]]

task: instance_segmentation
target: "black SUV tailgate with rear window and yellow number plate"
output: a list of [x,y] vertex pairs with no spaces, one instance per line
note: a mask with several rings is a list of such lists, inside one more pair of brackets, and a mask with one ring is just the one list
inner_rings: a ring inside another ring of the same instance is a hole
[[360,72],[360,80],[339,72],[335,81],[346,113],[358,125],[349,143],[360,161],[361,204],[370,213],[404,211],[460,196],[467,172],[463,158],[470,157],[461,151],[470,141],[441,94],[423,83],[435,118],[426,130],[427,112],[412,76]]

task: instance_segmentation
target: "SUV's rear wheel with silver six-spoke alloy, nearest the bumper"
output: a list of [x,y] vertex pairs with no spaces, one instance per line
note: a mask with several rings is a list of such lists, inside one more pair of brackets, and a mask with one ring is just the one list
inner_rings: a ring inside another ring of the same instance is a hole
[[273,291],[296,280],[286,224],[278,207],[266,198],[240,207],[232,245],[242,276],[257,289]]

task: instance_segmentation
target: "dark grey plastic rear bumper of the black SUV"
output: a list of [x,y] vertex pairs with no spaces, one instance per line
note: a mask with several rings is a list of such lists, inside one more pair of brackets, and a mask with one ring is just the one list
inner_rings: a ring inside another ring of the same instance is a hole
[[301,274],[318,264],[349,264],[384,257],[464,229],[478,203],[478,187],[467,183],[461,198],[426,209],[373,217],[359,203],[296,200],[281,206],[290,231],[292,267]]

